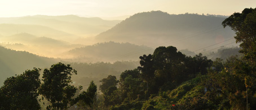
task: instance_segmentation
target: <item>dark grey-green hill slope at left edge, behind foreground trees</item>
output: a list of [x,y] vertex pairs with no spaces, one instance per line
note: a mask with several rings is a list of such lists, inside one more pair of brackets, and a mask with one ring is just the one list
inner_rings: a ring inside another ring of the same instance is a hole
[[0,85],[7,77],[22,74],[33,67],[45,68],[58,62],[54,58],[39,57],[35,54],[14,51],[0,46]]

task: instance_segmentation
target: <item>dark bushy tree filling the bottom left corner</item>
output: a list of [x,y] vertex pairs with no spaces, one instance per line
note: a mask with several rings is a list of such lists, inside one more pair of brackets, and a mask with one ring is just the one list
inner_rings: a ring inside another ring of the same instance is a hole
[[34,68],[7,78],[0,89],[0,109],[40,109],[37,100],[41,84],[39,71]]

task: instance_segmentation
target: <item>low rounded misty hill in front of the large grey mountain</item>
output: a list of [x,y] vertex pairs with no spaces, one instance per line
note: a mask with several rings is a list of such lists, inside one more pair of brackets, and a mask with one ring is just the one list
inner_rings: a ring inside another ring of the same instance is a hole
[[[68,56],[74,58],[81,58],[95,61],[138,61],[139,56],[143,54],[152,54],[153,49],[144,45],[135,45],[131,43],[115,43],[115,42],[104,42],[97,43],[94,45],[88,45],[86,47],[75,48],[67,53]],[[93,59],[93,60],[92,60]]]

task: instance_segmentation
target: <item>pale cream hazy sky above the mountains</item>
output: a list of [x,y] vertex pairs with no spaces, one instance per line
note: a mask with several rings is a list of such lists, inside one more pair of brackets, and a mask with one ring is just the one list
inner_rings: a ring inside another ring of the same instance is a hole
[[80,15],[114,17],[161,10],[170,14],[231,15],[255,8],[255,0],[0,0],[0,17]]

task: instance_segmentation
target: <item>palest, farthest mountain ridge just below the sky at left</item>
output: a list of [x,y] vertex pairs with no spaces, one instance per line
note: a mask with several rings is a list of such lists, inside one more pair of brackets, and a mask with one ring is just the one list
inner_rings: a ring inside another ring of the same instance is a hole
[[86,18],[75,15],[65,16],[24,16],[0,18],[1,24],[41,25],[65,31],[77,36],[96,35],[116,25],[119,20],[102,20],[98,17]]

